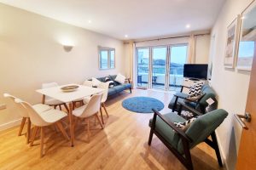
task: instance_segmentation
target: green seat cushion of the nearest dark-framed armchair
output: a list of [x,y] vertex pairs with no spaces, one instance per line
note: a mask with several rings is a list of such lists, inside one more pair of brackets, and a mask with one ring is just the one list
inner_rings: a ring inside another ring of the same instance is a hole
[[[186,120],[183,119],[183,117],[178,116],[176,113],[173,112],[167,113],[163,116],[170,122],[186,122]],[[153,119],[149,120],[149,127],[152,126],[152,121]],[[177,144],[179,140],[178,134],[175,133],[175,131],[173,131],[172,127],[169,127],[166,124],[166,122],[160,119],[159,116],[157,116],[156,118],[155,131],[160,133],[160,135],[164,137],[164,139],[166,139],[169,144],[171,144],[174,148],[177,149]]]

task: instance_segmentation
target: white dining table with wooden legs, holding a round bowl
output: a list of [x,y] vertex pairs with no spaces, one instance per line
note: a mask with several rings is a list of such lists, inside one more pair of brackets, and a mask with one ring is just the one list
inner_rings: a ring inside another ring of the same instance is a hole
[[[77,85],[79,86],[78,89],[76,89],[73,92],[63,92],[61,90],[62,87],[68,86],[68,85]],[[49,96],[50,98],[60,100],[63,103],[68,103],[69,105],[69,111],[68,111],[68,118],[69,118],[69,129],[70,129],[70,140],[71,140],[71,146],[73,146],[74,142],[74,132],[73,132],[73,101],[78,99],[83,99],[84,97],[90,97],[93,94],[101,94],[104,91],[102,88],[90,88],[83,85],[78,84],[67,84],[63,86],[57,86],[52,88],[43,88],[38,89],[36,92],[39,94],[43,94],[42,103],[44,104],[45,96]]]

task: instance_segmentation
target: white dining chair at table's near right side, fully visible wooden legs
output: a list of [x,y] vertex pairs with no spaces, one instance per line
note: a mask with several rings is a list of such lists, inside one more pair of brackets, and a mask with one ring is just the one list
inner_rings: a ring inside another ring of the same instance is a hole
[[74,126],[76,126],[77,124],[77,118],[82,118],[87,121],[88,139],[90,139],[90,117],[95,116],[101,127],[103,128],[102,122],[98,116],[98,112],[100,111],[101,107],[101,100],[102,94],[95,94],[90,98],[89,102],[86,105],[83,105],[82,107],[73,110],[73,116],[76,116],[75,123],[73,123]]

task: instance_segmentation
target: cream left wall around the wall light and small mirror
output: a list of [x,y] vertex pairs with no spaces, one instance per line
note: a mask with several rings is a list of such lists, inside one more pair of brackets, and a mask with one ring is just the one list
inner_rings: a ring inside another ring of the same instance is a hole
[[[73,43],[71,52],[61,43]],[[98,69],[97,46],[115,48],[116,68]],[[125,73],[122,41],[70,26],[38,14],[0,3],[0,129],[20,117],[3,93],[31,103],[40,102],[35,92],[43,82],[83,82],[88,77]],[[11,125],[11,124],[10,124]],[[2,127],[1,127],[2,126]]]

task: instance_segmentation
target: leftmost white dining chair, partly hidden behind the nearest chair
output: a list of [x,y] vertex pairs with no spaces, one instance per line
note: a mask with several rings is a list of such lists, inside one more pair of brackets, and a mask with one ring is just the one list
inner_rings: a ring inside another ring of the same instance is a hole
[[[12,101],[12,103],[18,109],[17,113],[22,117],[18,136],[21,135],[22,130],[23,130],[24,125],[25,125],[26,120],[27,120],[26,143],[28,144],[29,143],[29,139],[30,139],[30,129],[31,129],[31,122],[30,122],[30,117],[28,115],[28,112],[26,111],[26,109],[22,105],[17,104],[15,102],[15,99],[17,99],[15,96],[13,96],[11,94],[3,94],[3,97],[8,98],[8,99],[10,99],[10,101]],[[38,111],[39,113],[52,109],[52,107],[50,107],[49,105],[44,105],[44,104],[32,105],[32,107],[33,107],[34,110]]]

